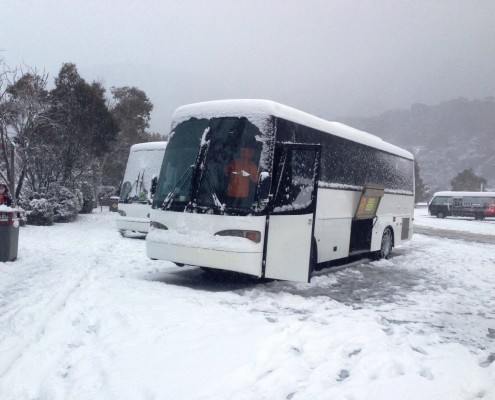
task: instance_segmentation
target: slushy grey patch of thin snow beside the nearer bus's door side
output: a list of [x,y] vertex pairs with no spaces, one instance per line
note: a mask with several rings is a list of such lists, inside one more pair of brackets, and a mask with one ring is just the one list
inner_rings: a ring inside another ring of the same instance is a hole
[[[462,250],[452,253],[451,240]],[[264,294],[334,300],[353,311],[375,313],[384,332],[437,334],[446,342],[460,343],[481,354],[494,348],[493,249],[490,244],[474,247],[458,238],[418,235],[396,249],[390,260],[361,260],[324,269],[309,284],[272,282],[264,286]],[[270,319],[301,313],[299,308],[284,310],[269,302],[254,311]]]

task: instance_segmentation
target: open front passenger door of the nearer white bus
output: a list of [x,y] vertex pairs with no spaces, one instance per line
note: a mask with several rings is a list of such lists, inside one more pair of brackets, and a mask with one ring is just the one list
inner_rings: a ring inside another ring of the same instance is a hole
[[275,152],[264,276],[309,282],[320,145],[283,144]]

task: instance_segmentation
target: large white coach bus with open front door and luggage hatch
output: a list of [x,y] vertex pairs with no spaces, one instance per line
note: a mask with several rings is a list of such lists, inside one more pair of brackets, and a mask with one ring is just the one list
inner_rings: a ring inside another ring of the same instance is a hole
[[413,164],[376,136],[271,101],[180,107],[147,255],[300,282],[328,261],[387,258],[412,236]]

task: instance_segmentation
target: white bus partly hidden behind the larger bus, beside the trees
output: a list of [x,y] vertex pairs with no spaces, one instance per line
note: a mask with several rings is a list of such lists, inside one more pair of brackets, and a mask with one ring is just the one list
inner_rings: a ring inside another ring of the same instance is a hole
[[167,142],[138,143],[131,146],[120,189],[117,229],[147,233],[149,230],[151,199],[160,173]]

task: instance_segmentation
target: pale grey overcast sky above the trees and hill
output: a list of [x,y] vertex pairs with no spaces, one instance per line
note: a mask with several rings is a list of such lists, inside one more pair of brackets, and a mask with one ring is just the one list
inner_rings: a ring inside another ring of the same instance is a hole
[[495,96],[495,0],[2,0],[0,59],[136,86],[160,133],[228,98],[370,116]]

